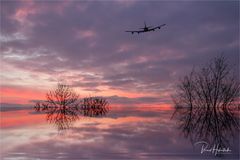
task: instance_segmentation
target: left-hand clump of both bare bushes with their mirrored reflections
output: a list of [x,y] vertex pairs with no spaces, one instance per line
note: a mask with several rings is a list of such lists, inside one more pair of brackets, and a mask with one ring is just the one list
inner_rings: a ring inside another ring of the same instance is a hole
[[58,84],[54,91],[46,94],[46,101],[37,102],[35,111],[46,114],[49,123],[59,131],[68,129],[81,116],[104,116],[109,111],[107,100],[99,97],[78,99],[78,95],[67,85]]

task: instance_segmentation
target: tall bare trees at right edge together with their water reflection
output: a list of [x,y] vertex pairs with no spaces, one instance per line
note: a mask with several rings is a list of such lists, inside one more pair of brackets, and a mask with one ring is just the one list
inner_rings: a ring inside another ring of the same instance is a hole
[[177,86],[173,96],[179,127],[192,141],[228,144],[228,137],[239,130],[239,81],[224,57],[193,70]]

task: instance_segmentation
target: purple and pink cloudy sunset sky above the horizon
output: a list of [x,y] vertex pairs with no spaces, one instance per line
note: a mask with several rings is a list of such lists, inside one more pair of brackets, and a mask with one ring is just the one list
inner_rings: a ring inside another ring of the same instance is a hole
[[[171,105],[178,80],[223,54],[239,65],[239,1],[1,1],[1,103],[81,97]],[[126,33],[166,24],[156,32]]]

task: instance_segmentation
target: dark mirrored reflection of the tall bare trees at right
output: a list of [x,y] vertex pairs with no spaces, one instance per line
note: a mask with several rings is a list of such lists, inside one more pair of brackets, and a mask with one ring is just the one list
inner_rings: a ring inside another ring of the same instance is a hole
[[229,147],[234,134],[239,132],[239,118],[235,110],[213,108],[175,107],[173,117],[177,119],[179,129],[192,143],[205,141],[210,146]]

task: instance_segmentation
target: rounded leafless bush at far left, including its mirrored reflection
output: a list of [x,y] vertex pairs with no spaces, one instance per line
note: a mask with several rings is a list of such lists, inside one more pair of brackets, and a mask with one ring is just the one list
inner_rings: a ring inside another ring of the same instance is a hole
[[35,110],[45,112],[47,121],[55,124],[59,130],[67,129],[78,119],[78,97],[68,85],[58,84],[55,90],[46,94],[46,101],[35,105]]

